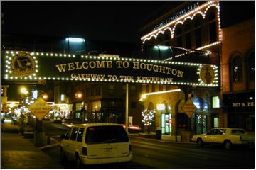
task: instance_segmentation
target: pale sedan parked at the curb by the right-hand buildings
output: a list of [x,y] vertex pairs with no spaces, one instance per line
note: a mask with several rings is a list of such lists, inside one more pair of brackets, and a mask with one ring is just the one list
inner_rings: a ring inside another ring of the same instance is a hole
[[254,136],[247,135],[242,128],[213,128],[205,134],[193,135],[192,141],[198,147],[203,145],[223,145],[230,149],[233,145],[254,145]]

